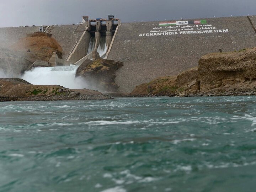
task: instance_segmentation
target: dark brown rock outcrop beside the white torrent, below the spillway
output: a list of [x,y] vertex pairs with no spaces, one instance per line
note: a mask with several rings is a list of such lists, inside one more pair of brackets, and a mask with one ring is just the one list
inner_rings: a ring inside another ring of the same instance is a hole
[[118,85],[115,83],[115,71],[123,66],[122,62],[97,59],[94,62],[86,60],[76,71],[76,76],[84,78],[91,87],[101,92],[116,92]]

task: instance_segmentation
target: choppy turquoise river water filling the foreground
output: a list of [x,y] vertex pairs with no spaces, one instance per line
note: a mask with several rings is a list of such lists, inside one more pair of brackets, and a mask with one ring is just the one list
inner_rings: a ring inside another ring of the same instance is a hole
[[0,103],[1,192],[255,187],[255,96]]

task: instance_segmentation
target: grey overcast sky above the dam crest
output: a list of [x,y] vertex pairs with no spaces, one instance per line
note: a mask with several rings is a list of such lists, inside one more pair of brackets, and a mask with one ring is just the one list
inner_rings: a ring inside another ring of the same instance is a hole
[[0,27],[80,22],[81,16],[122,22],[256,15],[256,0],[0,0]]

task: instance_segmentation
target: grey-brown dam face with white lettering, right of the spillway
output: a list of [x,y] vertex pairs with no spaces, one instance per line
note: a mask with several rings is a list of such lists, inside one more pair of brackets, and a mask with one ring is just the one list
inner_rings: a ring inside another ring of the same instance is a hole
[[[249,18],[256,26],[256,16]],[[159,76],[176,75],[197,66],[202,55],[219,49],[255,47],[256,32],[249,18],[122,23],[107,58],[124,63],[116,72],[119,91],[128,93]]]

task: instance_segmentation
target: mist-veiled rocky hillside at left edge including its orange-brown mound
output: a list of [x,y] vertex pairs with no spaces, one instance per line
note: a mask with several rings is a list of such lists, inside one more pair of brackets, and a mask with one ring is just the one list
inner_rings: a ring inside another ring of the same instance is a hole
[[48,62],[53,52],[62,57],[62,48],[47,33],[29,34],[9,49],[0,48],[0,78],[20,77],[36,60]]

